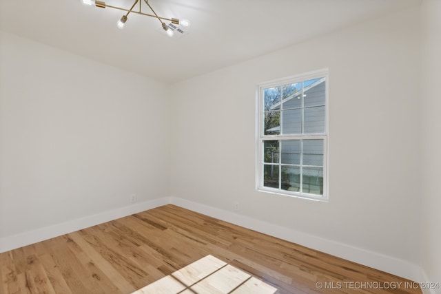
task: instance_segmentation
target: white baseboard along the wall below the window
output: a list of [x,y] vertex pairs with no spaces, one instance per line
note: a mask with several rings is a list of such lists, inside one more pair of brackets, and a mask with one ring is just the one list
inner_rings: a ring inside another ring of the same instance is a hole
[[311,249],[335,255],[339,258],[350,260],[351,262],[363,264],[373,269],[378,269],[380,271],[391,273],[393,275],[398,275],[400,277],[404,277],[416,282],[423,281],[422,270],[420,266],[417,266],[416,264],[412,264],[411,262],[407,262],[405,260],[393,258],[391,256],[383,255],[381,253],[367,251],[365,249],[342,244],[333,240],[327,240],[316,235],[302,233],[300,231],[295,231],[287,227],[281,227],[277,224],[263,222],[261,220],[256,220],[254,218],[242,216],[237,213],[209,207],[204,204],[191,202],[189,200],[184,200],[181,198],[172,197],[170,199],[170,202],[185,209],[196,211],[198,213],[203,213],[207,216],[218,218],[226,222],[231,222],[241,227],[252,229],[260,233],[265,233],[267,235],[272,235],[274,237],[294,242],[302,246],[307,246]]

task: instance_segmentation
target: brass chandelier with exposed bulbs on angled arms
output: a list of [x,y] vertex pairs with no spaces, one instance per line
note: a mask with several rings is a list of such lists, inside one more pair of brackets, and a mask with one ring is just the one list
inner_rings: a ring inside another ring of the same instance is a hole
[[[99,1],[99,0],[81,0],[81,1],[83,2],[83,4],[89,5],[89,6],[95,5],[96,7],[99,7],[99,8],[114,8],[114,9],[123,10],[123,11],[127,12],[116,23],[116,26],[121,30],[124,28],[125,23],[127,22],[127,17],[129,16],[130,13],[141,14],[141,15],[145,15],[146,17],[154,17],[155,19],[158,19],[158,21],[161,22],[162,28],[165,30],[165,32],[167,32],[168,36],[173,36],[174,32],[173,32],[172,28],[169,27],[169,25],[164,23],[164,21],[171,21],[175,25],[183,25],[185,27],[190,25],[190,22],[187,19],[174,19],[174,18],[167,19],[166,17],[159,17],[158,14],[156,14],[156,12],[153,10],[152,6],[150,6],[150,3],[148,0],[135,0],[135,2],[133,3],[133,5],[130,9],[107,5],[104,1]],[[148,14],[148,13],[142,12],[141,3],[143,3],[143,1],[145,2],[145,4],[147,4],[147,6],[150,8],[150,10],[152,10],[153,14]],[[139,3],[139,8],[137,10],[134,10],[137,3]]]

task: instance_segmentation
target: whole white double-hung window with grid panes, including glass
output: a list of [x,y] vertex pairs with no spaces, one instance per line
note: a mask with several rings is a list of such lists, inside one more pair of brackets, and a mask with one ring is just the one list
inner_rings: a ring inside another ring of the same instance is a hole
[[327,200],[327,70],[260,85],[257,189]]

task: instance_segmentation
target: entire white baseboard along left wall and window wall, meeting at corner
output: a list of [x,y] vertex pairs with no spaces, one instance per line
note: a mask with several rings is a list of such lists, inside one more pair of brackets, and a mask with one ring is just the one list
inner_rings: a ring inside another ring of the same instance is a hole
[[[21,246],[26,246],[28,244],[48,240],[59,235],[64,235],[65,233],[71,233],[73,231],[92,227],[96,224],[101,224],[110,220],[116,220],[117,218],[123,218],[124,216],[130,216],[134,213],[154,209],[169,203],[185,209],[196,211],[198,213],[203,213],[213,218],[224,220],[225,222],[231,222],[247,229],[252,229],[254,231],[272,235],[274,237],[294,242],[302,246],[307,246],[311,249],[335,255],[339,258],[344,258],[345,260],[364,264],[365,266],[372,267],[373,269],[378,269],[393,275],[405,277],[409,280],[416,282],[428,281],[427,276],[425,275],[424,271],[422,271],[420,266],[412,264],[411,262],[393,258],[381,253],[367,251],[355,246],[342,244],[333,240],[327,240],[316,235],[302,233],[300,231],[295,231],[277,224],[263,222],[261,220],[242,216],[238,213],[217,209],[205,204],[176,197],[165,197],[146,202],[139,202],[127,207],[121,207],[120,209],[104,211],[103,213],[98,213],[93,216],[70,220],[68,222],[54,224],[50,227],[43,227],[34,231],[19,233],[6,238],[0,238],[0,253],[19,248]],[[424,291],[424,294],[435,294],[435,292]]]

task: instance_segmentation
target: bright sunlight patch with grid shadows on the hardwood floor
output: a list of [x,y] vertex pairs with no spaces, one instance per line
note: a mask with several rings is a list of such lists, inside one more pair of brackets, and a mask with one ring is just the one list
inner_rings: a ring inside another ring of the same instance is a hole
[[274,294],[277,289],[207,255],[132,294]]

